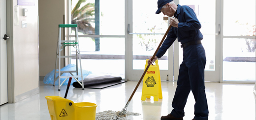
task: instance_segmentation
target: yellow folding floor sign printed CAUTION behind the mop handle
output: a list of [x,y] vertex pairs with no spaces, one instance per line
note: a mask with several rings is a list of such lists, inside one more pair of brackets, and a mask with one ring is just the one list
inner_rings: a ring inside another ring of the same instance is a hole
[[[148,71],[143,77],[142,96],[141,100],[145,101],[146,97],[154,96],[154,101],[162,99],[162,88],[160,79],[160,70],[158,60],[155,61],[156,65],[150,65]],[[146,60],[145,69],[148,66],[148,59]]]

